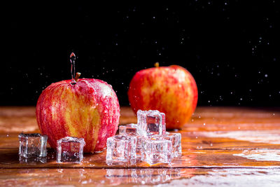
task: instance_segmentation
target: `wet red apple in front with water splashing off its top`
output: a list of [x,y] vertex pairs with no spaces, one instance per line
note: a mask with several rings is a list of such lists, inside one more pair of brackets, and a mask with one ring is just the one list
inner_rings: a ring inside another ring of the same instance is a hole
[[36,119],[48,143],[57,148],[63,137],[85,139],[85,153],[101,152],[106,140],[118,130],[120,105],[108,83],[94,78],[80,78],[52,83],[38,98]]

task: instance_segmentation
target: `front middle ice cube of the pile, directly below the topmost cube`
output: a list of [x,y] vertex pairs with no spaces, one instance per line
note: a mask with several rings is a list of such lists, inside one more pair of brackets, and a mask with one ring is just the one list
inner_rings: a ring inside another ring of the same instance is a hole
[[147,137],[142,143],[141,160],[150,165],[172,162],[172,141],[161,135]]

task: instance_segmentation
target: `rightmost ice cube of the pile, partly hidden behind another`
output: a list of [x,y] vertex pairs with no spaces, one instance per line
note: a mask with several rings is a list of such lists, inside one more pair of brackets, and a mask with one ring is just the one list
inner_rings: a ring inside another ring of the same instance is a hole
[[172,141],[172,158],[180,156],[182,154],[181,134],[168,133],[165,134],[165,139]]

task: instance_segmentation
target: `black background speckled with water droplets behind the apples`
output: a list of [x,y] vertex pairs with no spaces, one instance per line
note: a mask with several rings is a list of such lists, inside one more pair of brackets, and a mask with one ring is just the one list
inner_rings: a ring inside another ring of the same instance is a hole
[[134,74],[155,62],[195,77],[198,105],[279,106],[279,4],[187,1],[177,6],[3,6],[0,105],[35,105],[50,83],[113,86],[121,105]]

